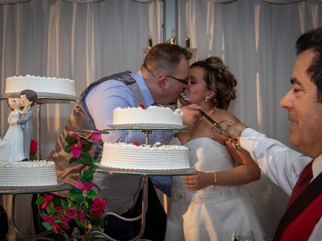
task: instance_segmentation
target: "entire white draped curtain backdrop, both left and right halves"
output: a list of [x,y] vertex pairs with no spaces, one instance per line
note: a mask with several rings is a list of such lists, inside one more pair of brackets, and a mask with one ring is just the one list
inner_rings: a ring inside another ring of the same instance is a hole
[[[101,77],[137,71],[148,30],[154,44],[162,42],[163,2],[147,2],[0,0],[0,92],[5,91],[7,77],[32,74],[74,79],[79,96]],[[278,103],[291,87],[296,39],[322,26],[321,1],[180,0],[177,18],[181,46],[189,30],[198,59],[220,56],[236,76],[238,97],[231,111],[250,127],[288,145],[290,123]],[[0,106],[3,137],[10,109],[6,101]],[[43,158],[73,108],[74,104],[41,106]],[[35,129],[36,124],[34,116]],[[272,236],[288,197],[265,176],[257,185],[249,189],[256,190],[258,212]]]

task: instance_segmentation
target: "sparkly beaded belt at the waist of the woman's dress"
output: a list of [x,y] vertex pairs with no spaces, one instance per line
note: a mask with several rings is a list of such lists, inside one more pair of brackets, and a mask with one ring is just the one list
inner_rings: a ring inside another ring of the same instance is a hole
[[190,193],[172,189],[171,200],[190,204],[208,204],[226,201],[239,195],[242,187],[228,187],[218,191]]

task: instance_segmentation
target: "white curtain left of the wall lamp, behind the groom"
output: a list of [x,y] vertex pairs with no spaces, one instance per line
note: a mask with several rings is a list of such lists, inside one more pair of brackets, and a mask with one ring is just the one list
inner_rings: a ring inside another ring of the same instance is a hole
[[[159,1],[72,4],[33,0],[0,5],[1,92],[7,77],[32,74],[74,79],[79,96],[87,85],[104,76],[124,70],[136,72],[142,64],[148,30],[155,43],[162,42],[159,19]],[[43,158],[53,148],[73,108],[74,104],[41,106]],[[6,101],[1,101],[1,137],[9,127],[9,111]]]

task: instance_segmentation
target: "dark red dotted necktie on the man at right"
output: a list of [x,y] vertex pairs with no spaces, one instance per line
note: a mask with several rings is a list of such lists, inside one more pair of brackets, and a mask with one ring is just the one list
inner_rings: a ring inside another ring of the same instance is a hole
[[310,181],[313,178],[312,163],[313,163],[313,160],[306,165],[306,167],[300,174],[300,177],[298,178],[293,188],[293,191],[292,191],[290,200],[288,201],[286,209],[288,209],[292,205],[295,199],[304,191],[304,189],[308,186],[308,184],[310,184]]

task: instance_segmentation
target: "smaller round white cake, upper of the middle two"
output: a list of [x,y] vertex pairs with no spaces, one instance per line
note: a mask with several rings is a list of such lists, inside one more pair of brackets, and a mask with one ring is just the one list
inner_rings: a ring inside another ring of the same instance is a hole
[[[172,110],[169,107],[148,106],[141,107],[117,107],[113,111],[113,125],[133,125],[133,127],[163,127],[183,126],[183,112],[181,109]],[[159,126],[157,126],[159,125]]]

